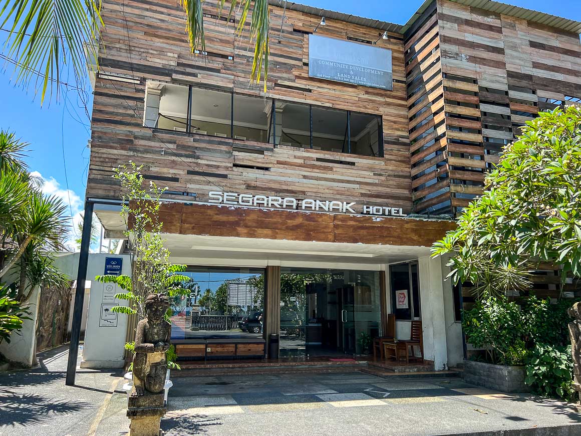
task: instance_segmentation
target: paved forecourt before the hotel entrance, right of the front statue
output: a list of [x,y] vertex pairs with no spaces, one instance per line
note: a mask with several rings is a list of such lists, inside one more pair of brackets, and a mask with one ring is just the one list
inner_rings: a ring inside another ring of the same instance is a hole
[[[353,372],[173,381],[162,423],[168,435],[441,435],[581,423],[560,402],[476,388],[460,378]],[[581,426],[568,431],[581,434]]]

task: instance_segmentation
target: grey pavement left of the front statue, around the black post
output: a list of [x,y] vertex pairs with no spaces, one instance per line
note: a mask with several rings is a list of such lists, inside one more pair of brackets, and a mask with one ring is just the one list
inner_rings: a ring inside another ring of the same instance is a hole
[[69,387],[68,355],[68,345],[61,346],[40,353],[36,369],[0,373],[0,435],[128,434],[123,373],[77,367],[76,386]]

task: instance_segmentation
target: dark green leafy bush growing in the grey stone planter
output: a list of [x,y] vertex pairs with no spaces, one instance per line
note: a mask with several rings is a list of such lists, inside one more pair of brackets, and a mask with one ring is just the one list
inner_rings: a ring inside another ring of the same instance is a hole
[[522,365],[526,355],[524,320],[517,303],[506,297],[489,297],[464,312],[462,325],[467,341],[486,349],[490,363]]

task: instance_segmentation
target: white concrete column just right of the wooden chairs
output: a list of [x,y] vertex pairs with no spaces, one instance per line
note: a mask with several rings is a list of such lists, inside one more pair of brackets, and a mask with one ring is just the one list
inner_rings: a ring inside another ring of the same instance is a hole
[[448,367],[441,262],[440,258],[430,256],[418,259],[424,359],[433,360],[437,371]]

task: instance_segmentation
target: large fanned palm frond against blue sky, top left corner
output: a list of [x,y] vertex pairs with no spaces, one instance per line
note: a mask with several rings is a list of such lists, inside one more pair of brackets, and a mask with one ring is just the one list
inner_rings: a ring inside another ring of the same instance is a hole
[[17,82],[34,81],[41,102],[47,89],[52,95],[53,86],[58,97],[65,65],[70,63],[80,78],[87,58],[98,59],[94,41],[103,24],[101,0],[0,0],[0,27],[8,23],[6,46]]

